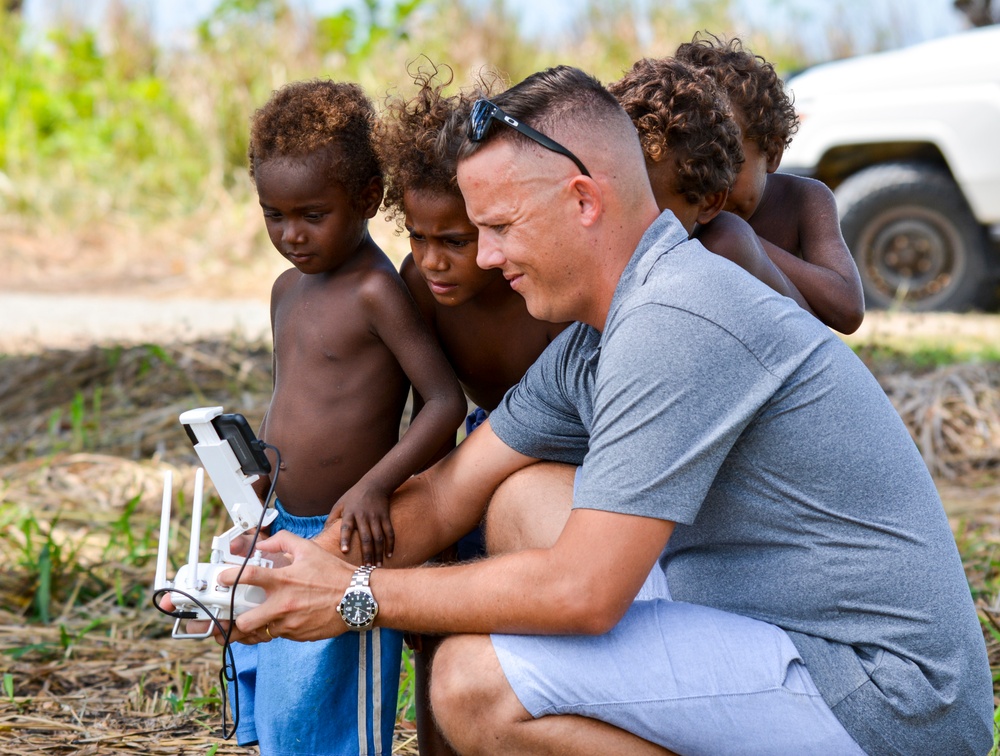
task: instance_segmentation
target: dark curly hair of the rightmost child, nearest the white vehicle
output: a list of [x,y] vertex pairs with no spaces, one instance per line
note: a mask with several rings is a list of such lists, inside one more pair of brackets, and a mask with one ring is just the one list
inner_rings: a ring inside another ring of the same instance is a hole
[[715,79],[742,118],[746,138],[769,160],[780,157],[799,120],[774,66],[745,50],[739,39],[726,41],[714,34],[695,34],[677,48],[677,58]]

